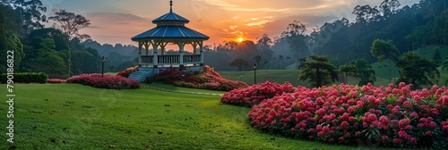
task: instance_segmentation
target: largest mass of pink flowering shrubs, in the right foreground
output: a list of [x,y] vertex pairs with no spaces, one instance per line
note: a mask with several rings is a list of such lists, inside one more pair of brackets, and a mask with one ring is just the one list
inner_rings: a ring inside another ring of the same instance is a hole
[[410,89],[297,87],[254,105],[248,116],[256,129],[325,143],[448,148],[448,88]]

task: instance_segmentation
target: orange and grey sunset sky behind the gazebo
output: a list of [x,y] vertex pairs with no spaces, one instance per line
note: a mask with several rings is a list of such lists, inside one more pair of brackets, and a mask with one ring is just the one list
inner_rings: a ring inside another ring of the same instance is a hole
[[[401,6],[419,0],[401,0]],[[207,45],[238,38],[256,41],[263,34],[280,37],[289,23],[300,21],[312,31],[325,22],[348,18],[356,5],[380,5],[383,0],[173,0],[173,12],[190,21],[186,26],[210,37]],[[131,40],[156,27],[152,20],[169,12],[169,0],[42,0],[47,16],[65,9],[82,14],[90,27],[80,32],[100,44],[137,45]]]

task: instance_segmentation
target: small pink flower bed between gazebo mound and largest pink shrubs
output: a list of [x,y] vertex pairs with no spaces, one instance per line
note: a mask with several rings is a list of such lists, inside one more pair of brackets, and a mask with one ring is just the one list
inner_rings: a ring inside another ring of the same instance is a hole
[[247,107],[252,107],[255,104],[260,104],[263,100],[280,96],[283,93],[294,92],[294,87],[290,83],[280,85],[278,83],[271,83],[266,81],[247,88],[237,88],[224,94],[221,97],[221,102],[225,104],[235,104]]

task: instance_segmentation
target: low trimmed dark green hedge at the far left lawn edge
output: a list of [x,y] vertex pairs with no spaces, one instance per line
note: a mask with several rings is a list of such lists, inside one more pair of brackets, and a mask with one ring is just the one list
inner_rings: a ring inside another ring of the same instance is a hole
[[[14,73],[13,74],[13,81],[14,83],[46,83],[48,79],[48,75],[39,72],[23,72],[23,73]],[[6,83],[8,78],[8,74],[2,73],[1,74],[1,82]]]

